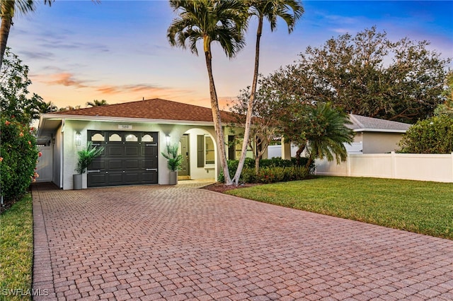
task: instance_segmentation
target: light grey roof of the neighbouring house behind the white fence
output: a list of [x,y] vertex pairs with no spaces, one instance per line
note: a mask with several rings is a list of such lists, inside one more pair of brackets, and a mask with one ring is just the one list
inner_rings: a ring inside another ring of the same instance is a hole
[[411,124],[402,122],[391,122],[389,120],[365,117],[355,114],[349,114],[352,124],[348,124],[348,128],[354,131],[384,131],[391,133],[405,133]]

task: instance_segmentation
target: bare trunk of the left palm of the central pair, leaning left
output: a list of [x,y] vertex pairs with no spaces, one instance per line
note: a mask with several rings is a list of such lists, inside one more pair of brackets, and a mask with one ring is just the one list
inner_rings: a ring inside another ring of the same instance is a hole
[[222,120],[220,119],[219,101],[217,100],[217,92],[214,85],[214,76],[212,76],[212,57],[210,51],[205,51],[207,75],[210,78],[210,96],[211,96],[211,110],[212,120],[214,121],[214,130],[217,135],[217,148],[219,149],[220,164],[224,171],[224,179],[226,185],[231,185],[231,177],[229,176],[228,163],[226,163],[225,153],[225,138],[222,129]]

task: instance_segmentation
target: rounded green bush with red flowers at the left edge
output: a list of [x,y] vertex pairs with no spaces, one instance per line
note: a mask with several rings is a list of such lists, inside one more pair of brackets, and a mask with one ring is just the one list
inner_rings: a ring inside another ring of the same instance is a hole
[[38,177],[35,167],[40,152],[33,128],[13,118],[0,120],[0,189],[4,201],[11,202],[20,199]]

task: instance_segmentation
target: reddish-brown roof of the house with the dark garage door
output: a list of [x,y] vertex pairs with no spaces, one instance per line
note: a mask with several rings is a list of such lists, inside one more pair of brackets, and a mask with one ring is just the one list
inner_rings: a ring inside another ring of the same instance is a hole
[[[208,107],[188,105],[182,102],[154,98],[124,102],[115,105],[101,105],[85,109],[55,112],[52,114],[79,117],[126,117],[139,119],[161,119],[188,122],[212,122],[212,111]],[[234,114],[220,111],[222,122],[234,122]]]

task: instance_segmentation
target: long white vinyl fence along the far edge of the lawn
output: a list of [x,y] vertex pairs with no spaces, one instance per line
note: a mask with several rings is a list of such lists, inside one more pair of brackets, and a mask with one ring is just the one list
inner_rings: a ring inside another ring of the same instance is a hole
[[335,160],[332,162],[316,160],[316,175],[453,182],[453,153],[447,155],[394,152],[349,154],[348,160],[340,164]]

